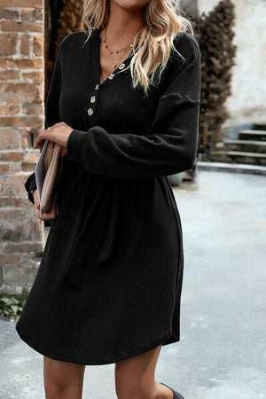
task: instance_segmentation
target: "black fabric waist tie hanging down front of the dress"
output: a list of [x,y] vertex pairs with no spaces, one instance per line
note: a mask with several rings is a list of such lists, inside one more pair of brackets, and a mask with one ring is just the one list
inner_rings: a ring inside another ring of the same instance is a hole
[[[130,187],[135,189],[132,182]],[[89,209],[65,268],[65,277],[77,290],[82,288],[85,267],[97,268],[113,254],[120,199],[134,200],[136,194],[135,190],[124,188],[117,180],[89,173],[78,185],[83,196],[82,207],[87,209],[89,203]]]

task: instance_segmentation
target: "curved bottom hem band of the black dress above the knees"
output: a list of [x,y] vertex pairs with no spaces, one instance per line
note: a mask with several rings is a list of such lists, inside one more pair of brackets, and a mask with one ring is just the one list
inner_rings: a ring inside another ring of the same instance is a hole
[[26,342],[29,347],[35,349],[36,352],[40,353],[43,356],[48,356],[51,359],[59,360],[61,362],[70,362],[74,364],[85,364],[85,365],[113,364],[116,362],[120,362],[121,360],[128,359],[129,357],[140,355],[150,349],[156,348],[160,344],[164,346],[179,341],[179,337],[175,337],[172,331],[170,331],[168,332],[167,335],[164,335],[159,340],[153,340],[153,342],[150,342],[142,347],[132,349],[129,352],[121,353],[120,355],[114,355],[106,358],[104,357],[82,358],[78,356],[59,354],[49,348],[39,347],[35,341],[28,340],[20,331],[20,327],[17,325],[16,325],[16,331],[20,335],[21,340],[24,340],[24,342]]

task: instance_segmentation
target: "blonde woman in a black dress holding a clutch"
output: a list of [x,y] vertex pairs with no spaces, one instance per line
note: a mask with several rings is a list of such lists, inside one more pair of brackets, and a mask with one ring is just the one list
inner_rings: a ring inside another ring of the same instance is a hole
[[170,0],[102,1],[84,2],[84,30],[59,45],[35,146],[62,145],[64,177],[43,216],[35,174],[25,184],[52,225],[16,329],[43,354],[46,398],[81,398],[85,365],[110,363],[119,398],[181,398],[154,373],[180,339],[168,176],[196,158],[200,50]]

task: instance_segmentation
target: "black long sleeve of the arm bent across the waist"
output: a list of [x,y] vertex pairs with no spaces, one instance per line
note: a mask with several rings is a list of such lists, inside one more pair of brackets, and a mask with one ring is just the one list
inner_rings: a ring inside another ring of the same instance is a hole
[[66,145],[70,159],[98,175],[122,179],[169,176],[192,168],[199,135],[200,48],[192,38],[185,42],[189,61],[180,71],[179,59],[147,133],[108,134],[100,126],[74,129]]

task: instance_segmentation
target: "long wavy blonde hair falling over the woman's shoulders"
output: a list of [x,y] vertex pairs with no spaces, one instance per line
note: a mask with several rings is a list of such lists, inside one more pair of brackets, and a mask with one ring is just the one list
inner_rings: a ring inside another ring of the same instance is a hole
[[[90,35],[94,29],[106,27],[109,19],[110,0],[84,0],[82,10],[82,29]],[[128,68],[132,77],[133,88],[140,85],[145,95],[150,84],[156,84],[155,78],[160,76],[171,57],[175,36],[179,32],[187,32],[194,36],[193,22],[181,15],[178,0],[150,0],[145,4],[145,23],[133,42],[132,59]],[[126,71],[125,68],[119,73]]]

